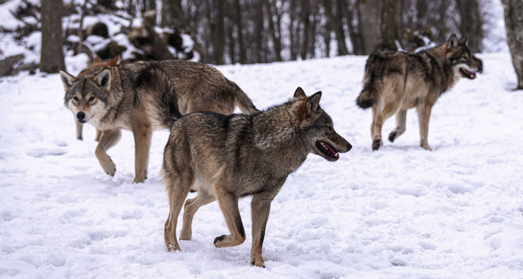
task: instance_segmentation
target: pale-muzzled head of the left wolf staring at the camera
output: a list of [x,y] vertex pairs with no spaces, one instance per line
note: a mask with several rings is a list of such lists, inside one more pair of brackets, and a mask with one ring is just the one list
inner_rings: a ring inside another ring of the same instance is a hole
[[60,70],[63,89],[66,91],[64,104],[79,123],[92,119],[103,110],[103,103],[107,102],[107,92],[111,89],[111,71],[105,68],[96,72],[74,77]]

